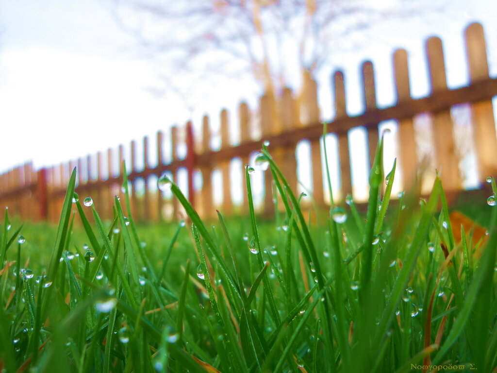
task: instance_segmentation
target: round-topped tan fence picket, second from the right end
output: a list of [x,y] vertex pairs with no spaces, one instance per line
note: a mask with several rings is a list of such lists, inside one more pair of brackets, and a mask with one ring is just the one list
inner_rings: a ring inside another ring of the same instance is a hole
[[[426,44],[432,93],[447,90],[442,41],[429,38]],[[446,190],[461,187],[459,158],[456,154],[453,124],[449,110],[432,113],[436,167]]]

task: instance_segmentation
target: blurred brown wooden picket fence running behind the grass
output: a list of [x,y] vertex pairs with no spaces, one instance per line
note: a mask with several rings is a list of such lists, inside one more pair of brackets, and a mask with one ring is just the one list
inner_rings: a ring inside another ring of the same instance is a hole
[[[376,104],[373,65],[365,62],[362,66],[362,88],[365,112],[357,116],[348,116],[345,109],[344,77],[341,72],[333,75],[334,107],[336,116],[327,124],[328,131],[337,136],[340,194],[351,194],[351,162],[349,148],[349,131],[362,126],[367,131],[370,160],[379,141],[378,123],[395,119],[398,123],[399,168],[402,172],[402,185],[409,188],[413,184],[419,167],[419,149],[415,141],[414,118],[421,113],[428,113],[432,123],[434,165],[441,172],[446,190],[461,190],[461,173],[458,167],[459,155],[456,151],[453,132],[451,108],[454,105],[468,103],[471,107],[471,125],[474,148],[479,167],[479,180],[483,182],[489,175],[497,174],[497,137],[492,98],[497,95],[497,79],[489,77],[486,54],[486,42],[483,28],[474,23],[465,30],[467,63],[470,85],[449,90],[446,83],[446,71],[439,38],[432,37],[426,42],[426,55],[429,66],[431,93],[427,97],[413,99],[410,91],[408,55],[403,49],[393,55],[393,71],[398,101],[387,108],[378,108]],[[320,122],[320,110],[317,100],[317,85],[310,76],[305,78],[302,94],[296,98],[290,89],[284,90],[278,97],[263,95],[258,110],[250,110],[246,103],[239,106],[238,123],[239,143],[230,144],[229,113],[222,110],[220,114],[221,147],[211,149],[212,130],[209,117],[202,122],[201,134],[194,133],[191,122],[184,127],[172,127],[169,133],[170,162],[163,157],[165,136],[157,133],[157,166],[149,162],[150,139],[143,140],[144,167],[137,167],[137,144],[131,142],[128,166],[132,190],[132,211],[137,220],[158,220],[181,214],[181,208],[175,199],[163,195],[156,185],[157,176],[165,171],[174,175],[187,175],[187,187],[184,192],[202,216],[212,217],[218,208],[225,214],[244,213],[247,211],[245,182],[239,180],[236,186],[245,196],[237,206],[231,194],[233,183],[230,164],[233,159],[241,160],[240,167],[249,163],[249,156],[261,148],[262,141],[270,142],[270,151],[281,165],[292,187],[297,187],[295,150],[297,144],[307,139],[311,148],[310,167],[312,169],[312,190],[317,205],[325,206],[322,170],[323,124]],[[254,114],[255,113],[255,114]],[[198,132],[198,131],[197,131]],[[258,138],[252,134],[258,132]],[[470,140],[470,139],[468,139]],[[186,156],[178,157],[178,149],[186,147]],[[122,176],[115,174],[112,167],[117,157],[119,164],[125,158],[125,149],[119,147],[115,154],[109,149],[107,160],[104,154],[79,159],[77,162],[63,163],[59,166],[35,171],[31,164],[15,168],[0,176],[0,205],[9,206],[11,213],[18,213],[22,219],[56,221],[60,214],[65,188],[70,170],[77,167],[77,192],[81,198],[91,196],[98,211],[104,218],[112,216],[112,200],[121,193]],[[108,165],[108,176],[104,177],[103,165]],[[96,169],[96,178],[91,175]],[[213,185],[211,176],[214,170],[222,175],[220,185]],[[272,203],[270,173],[264,181],[264,200],[262,208],[270,212]],[[196,182],[202,179],[201,186]],[[142,187],[139,187],[139,185]],[[143,187],[144,185],[144,187]],[[222,203],[214,205],[213,195],[222,189]]]

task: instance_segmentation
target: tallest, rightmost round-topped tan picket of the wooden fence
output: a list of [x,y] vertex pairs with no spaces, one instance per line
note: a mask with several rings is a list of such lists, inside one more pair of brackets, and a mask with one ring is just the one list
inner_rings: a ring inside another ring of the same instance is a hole
[[[473,23],[466,28],[466,58],[471,83],[489,78],[487,46],[483,27]],[[479,179],[497,175],[497,135],[492,100],[471,104],[473,139],[478,159]]]

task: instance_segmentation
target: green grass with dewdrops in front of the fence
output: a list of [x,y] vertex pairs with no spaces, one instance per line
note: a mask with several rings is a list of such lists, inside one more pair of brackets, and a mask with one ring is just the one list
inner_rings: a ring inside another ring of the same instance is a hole
[[163,179],[188,224],[136,224],[126,189],[102,222],[75,173],[57,230],[6,210],[0,369],[497,372],[497,207],[483,202],[489,234],[477,242],[455,238],[438,178],[427,200],[389,204],[395,164],[383,187],[380,142],[365,219],[347,200],[316,220],[261,154],[281,196],[276,224],[257,219],[250,168],[248,221],[203,221]]

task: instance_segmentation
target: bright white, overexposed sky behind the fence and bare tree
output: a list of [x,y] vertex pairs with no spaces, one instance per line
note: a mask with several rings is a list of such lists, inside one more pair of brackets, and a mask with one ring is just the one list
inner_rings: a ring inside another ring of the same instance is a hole
[[[375,3],[388,7],[395,0]],[[28,161],[40,168],[84,157],[190,118],[199,123],[206,112],[216,117],[242,99],[256,101],[253,91],[241,94],[229,80],[194,112],[177,97],[152,94],[157,69],[137,53],[137,41],[116,22],[114,6],[111,0],[0,0],[0,173]],[[382,81],[379,105],[393,104],[391,55],[399,47],[409,51],[413,96],[426,95],[424,40],[433,35],[444,43],[449,87],[466,85],[462,34],[473,21],[484,25],[491,76],[497,76],[496,15],[497,1],[451,0],[444,14],[374,25],[360,36],[367,43],[337,54],[317,77],[326,83],[319,92],[323,119],[333,115],[328,82],[336,69],[345,71],[349,114],[361,112],[358,71],[365,59]]]

